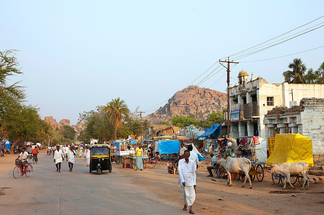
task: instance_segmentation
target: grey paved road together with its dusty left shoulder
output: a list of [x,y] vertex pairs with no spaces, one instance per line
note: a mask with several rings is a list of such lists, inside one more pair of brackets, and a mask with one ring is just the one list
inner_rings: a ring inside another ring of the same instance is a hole
[[[29,160],[30,162],[30,160]],[[39,155],[27,178],[13,177],[12,168],[0,174],[1,214],[178,214],[179,204],[162,201],[155,193],[112,172],[92,174],[83,159],[76,159],[73,172],[67,162],[56,172],[52,156]],[[24,208],[22,210],[22,207]]]

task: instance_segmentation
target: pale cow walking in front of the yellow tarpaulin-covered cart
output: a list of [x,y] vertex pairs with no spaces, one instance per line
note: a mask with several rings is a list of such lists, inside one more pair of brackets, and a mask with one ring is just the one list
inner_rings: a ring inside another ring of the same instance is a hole
[[[308,163],[304,161],[296,162],[296,163],[283,163],[278,164],[279,162],[271,165],[270,173],[277,172],[284,176],[284,188],[286,188],[286,182],[288,179],[288,183],[294,188],[294,186],[290,183],[290,176],[291,175],[298,175],[301,173],[304,177],[304,184],[302,186],[302,190],[307,182],[307,187],[309,188],[309,178],[308,178]],[[307,189],[308,189],[307,188]],[[295,188],[294,188],[295,189]]]

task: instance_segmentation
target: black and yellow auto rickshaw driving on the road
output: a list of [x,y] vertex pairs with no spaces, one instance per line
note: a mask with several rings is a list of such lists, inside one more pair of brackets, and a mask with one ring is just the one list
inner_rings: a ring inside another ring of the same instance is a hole
[[103,170],[111,172],[110,146],[107,144],[95,144],[90,147],[90,173],[97,171],[98,175]]

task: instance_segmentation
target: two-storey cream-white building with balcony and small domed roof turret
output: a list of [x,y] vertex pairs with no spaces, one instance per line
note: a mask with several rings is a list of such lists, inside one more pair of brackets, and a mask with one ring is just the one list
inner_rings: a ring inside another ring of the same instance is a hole
[[[244,70],[238,74],[238,84],[230,87],[230,136],[266,137],[264,115],[275,107],[290,107],[289,102],[304,97],[324,97],[322,84],[270,84],[262,77],[249,79]],[[238,107],[239,106],[239,107]],[[235,108],[237,107],[237,112]],[[236,118],[234,118],[236,117]]]

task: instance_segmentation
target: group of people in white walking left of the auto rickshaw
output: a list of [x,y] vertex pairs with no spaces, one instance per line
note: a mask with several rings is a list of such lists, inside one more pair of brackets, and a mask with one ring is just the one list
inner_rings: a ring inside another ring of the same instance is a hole
[[[82,149],[81,149],[82,148]],[[66,161],[69,165],[69,172],[73,172],[73,164],[75,163],[75,156],[79,155],[79,157],[82,156],[82,150],[83,147],[78,147],[75,145],[66,144],[66,146],[62,147],[62,150],[60,149],[60,146],[56,146],[56,150],[53,151],[54,155],[54,162],[56,166],[56,171],[61,172],[61,163],[66,158]],[[81,152],[81,153],[80,153]],[[85,155],[87,166],[90,164],[90,150],[88,146],[85,146]]]

